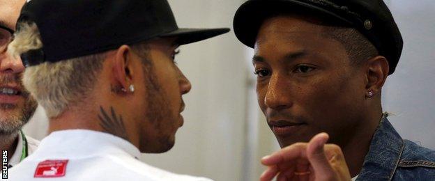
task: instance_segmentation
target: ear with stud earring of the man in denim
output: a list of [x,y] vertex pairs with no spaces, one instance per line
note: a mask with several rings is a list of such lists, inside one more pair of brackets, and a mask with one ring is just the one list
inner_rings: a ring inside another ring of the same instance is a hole
[[[369,97],[380,93],[383,84],[385,83],[388,77],[388,71],[390,67],[388,66],[388,61],[383,56],[375,56],[374,58],[370,58],[366,64],[366,91]],[[371,92],[372,93],[369,93]]]

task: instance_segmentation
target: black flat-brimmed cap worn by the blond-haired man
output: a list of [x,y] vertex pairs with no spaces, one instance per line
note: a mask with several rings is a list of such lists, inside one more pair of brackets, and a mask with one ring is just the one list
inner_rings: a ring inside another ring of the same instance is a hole
[[38,26],[43,47],[21,55],[26,67],[97,54],[152,38],[174,37],[178,45],[185,45],[229,31],[179,29],[166,0],[29,1],[22,8],[18,24],[27,21]]

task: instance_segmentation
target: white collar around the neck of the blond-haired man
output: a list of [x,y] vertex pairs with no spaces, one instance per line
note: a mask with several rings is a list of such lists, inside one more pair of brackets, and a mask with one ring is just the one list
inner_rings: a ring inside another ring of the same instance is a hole
[[52,132],[40,142],[38,150],[29,157],[84,158],[101,154],[128,153],[139,159],[140,151],[129,141],[118,136],[88,129],[68,129]]

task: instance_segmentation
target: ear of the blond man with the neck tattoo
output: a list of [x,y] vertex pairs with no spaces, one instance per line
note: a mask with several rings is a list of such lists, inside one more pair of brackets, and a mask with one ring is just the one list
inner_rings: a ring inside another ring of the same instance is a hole
[[122,45],[116,50],[113,64],[114,78],[123,90],[132,84],[132,49]]

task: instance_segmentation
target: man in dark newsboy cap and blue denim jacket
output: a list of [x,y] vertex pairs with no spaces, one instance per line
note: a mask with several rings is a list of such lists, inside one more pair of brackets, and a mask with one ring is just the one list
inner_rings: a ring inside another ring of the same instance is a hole
[[307,157],[310,145],[297,142],[326,132],[354,180],[434,180],[435,152],[403,140],[382,111],[381,88],[403,45],[383,1],[250,0],[238,9],[234,31],[255,50],[268,125],[282,148],[290,145],[263,160],[266,175],[314,179],[314,166],[283,167],[283,154],[305,144],[294,159]]

